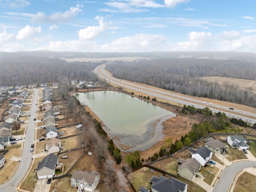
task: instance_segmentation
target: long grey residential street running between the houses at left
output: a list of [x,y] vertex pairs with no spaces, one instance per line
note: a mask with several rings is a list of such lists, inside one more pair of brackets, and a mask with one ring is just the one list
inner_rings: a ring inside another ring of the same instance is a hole
[[[24,142],[24,148],[22,157],[20,160],[20,166],[18,170],[16,171],[15,175],[9,180],[7,183],[0,185],[0,192],[16,192],[16,187],[20,183],[20,181],[23,179],[25,174],[27,173],[30,164],[32,162],[32,152],[30,152],[30,146],[32,143],[34,143],[34,135],[35,135],[35,121],[34,118],[36,118],[36,103],[38,101],[38,89],[34,90],[34,96],[32,99],[32,104],[30,108],[30,117],[28,120],[28,126],[26,130],[26,136],[25,139],[23,138]],[[8,170],[2,170],[2,171],[8,171]]]

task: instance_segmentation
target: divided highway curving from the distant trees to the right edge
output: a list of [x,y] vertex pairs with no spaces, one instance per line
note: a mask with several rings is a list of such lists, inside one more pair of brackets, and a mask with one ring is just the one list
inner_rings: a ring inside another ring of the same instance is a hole
[[[164,100],[170,101],[170,102],[174,102],[180,105],[193,105],[195,108],[205,108],[205,105],[202,105],[202,100],[197,100],[194,98],[188,98],[186,96],[180,96],[177,94],[172,94],[171,91],[167,91],[167,90],[161,90],[159,88],[149,88],[149,86],[142,86],[142,85],[138,85],[135,84],[133,82],[128,82],[128,81],[122,81],[120,79],[114,78],[112,76],[110,76],[109,74],[106,73],[105,71],[105,65],[106,64],[102,64],[100,66],[97,66],[94,69],[94,72],[102,79],[106,80],[107,82],[116,84],[117,86],[120,87],[124,87],[124,88],[128,88],[134,91],[138,91],[141,92],[143,94],[147,94],[148,96],[151,96],[152,98],[156,97],[156,98],[162,98]],[[203,99],[203,98],[202,98]],[[247,122],[247,124],[251,124],[253,125],[254,123],[256,123],[256,114],[252,113],[252,112],[248,112],[248,111],[242,111],[242,110],[228,110],[228,108],[226,106],[220,106],[217,104],[208,104],[207,105],[208,108],[210,108],[210,110],[212,110],[212,112],[224,112],[227,116],[229,116],[230,118],[241,118],[242,120],[244,120],[245,122]]]

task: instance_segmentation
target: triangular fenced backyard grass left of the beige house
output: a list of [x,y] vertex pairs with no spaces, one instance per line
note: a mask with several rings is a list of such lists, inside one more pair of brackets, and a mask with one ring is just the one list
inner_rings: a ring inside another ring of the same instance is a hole
[[177,167],[178,167],[178,159],[170,157],[164,160],[158,161],[156,163],[151,164],[152,166],[162,169],[170,174],[178,175]]

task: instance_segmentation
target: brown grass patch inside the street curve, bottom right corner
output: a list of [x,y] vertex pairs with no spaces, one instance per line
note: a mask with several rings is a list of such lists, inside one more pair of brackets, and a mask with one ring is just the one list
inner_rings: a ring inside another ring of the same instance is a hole
[[252,192],[256,189],[256,176],[248,172],[241,174],[236,182],[233,192]]

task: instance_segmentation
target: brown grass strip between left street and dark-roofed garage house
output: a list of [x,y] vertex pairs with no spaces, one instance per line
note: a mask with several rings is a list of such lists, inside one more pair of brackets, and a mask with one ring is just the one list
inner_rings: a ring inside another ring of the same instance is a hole
[[37,174],[36,174],[36,172],[34,172],[34,170],[37,168],[38,162],[41,162],[44,157],[45,156],[34,159],[34,164],[31,168],[28,176],[26,177],[24,182],[22,182],[20,189],[27,190],[27,191],[34,190],[34,188],[36,187],[36,179],[37,179]]

